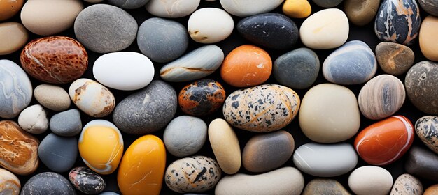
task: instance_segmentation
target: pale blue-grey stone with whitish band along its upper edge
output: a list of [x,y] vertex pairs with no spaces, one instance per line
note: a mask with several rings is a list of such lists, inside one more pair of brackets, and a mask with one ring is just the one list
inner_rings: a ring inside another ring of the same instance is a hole
[[325,79],[341,85],[362,84],[371,79],[377,71],[376,56],[365,42],[346,42],[323,63]]

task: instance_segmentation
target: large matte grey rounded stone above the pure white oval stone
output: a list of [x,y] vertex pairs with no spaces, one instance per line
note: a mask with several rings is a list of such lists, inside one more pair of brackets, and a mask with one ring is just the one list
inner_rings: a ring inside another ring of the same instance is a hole
[[106,4],[88,6],[74,23],[76,38],[97,53],[126,49],[134,42],[138,29],[136,20],[129,13]]

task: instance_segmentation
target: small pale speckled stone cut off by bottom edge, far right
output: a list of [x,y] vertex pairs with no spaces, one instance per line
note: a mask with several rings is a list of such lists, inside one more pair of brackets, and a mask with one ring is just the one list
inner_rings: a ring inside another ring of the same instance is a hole
[[395,180],[393,189],[391,189],[390,195],[396,194],[421,195],[423,194],[423,185],[414,176],[404,173]]

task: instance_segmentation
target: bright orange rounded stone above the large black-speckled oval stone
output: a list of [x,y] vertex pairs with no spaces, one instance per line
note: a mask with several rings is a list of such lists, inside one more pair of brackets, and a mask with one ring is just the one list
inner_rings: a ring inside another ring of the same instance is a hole
[[272,60],[267,52],[254,45],[242,45],[225,57],[220,77],[231,86],[257,86],[269,79],[271,70]]

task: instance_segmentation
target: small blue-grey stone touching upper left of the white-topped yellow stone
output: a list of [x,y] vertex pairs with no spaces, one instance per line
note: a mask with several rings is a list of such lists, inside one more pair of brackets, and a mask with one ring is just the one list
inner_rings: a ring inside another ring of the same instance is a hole
[[82,130],[80,112],[77,109],[69,109],[55,114],[50,118],[50,130],[59,136],[76,136]]

